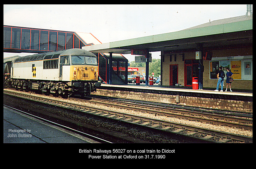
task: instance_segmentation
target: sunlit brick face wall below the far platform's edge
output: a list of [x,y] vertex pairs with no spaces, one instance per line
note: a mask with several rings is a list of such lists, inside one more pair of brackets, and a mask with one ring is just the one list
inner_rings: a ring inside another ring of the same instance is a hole
[[[146,92],[131,92],[121,90],[97,89],[94,95],[127,98],[134,100],[177,104],[176,95],[155,94]],[[222,110],[234,110],[240,112],[252,112],[252,102],[240,100],[224,100],[216,98],[200,98],[192,96],[179,96],[178,104],[186,106],[198,106],[203,108],[217,108]]]

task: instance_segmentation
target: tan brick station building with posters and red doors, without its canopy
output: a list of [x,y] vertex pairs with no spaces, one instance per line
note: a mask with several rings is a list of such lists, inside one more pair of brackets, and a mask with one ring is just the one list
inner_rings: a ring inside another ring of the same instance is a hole
[[[216,20],[185,29],[185,31],[211,27],[213,28],[210,31],[214,31],[218,26],[224,26],[224,24],[232,26],[239,21],[252,23],[252,16]],[[164,77],[162,85],[174,86],[178,83],[182,86],[192,87],[193,77],[200,77],[200,64],[202,63],[203,88],[216,88],[217,72],[221,66],[225,74],[227,73],[226,68],[230,68],[234,73],[232,88],[252,90],[252,30],[231,33],[230,36],[223,33],[220,36],[226,37],[222,40],[221,45],[215,43],[218,39],[212,39],[210,36],[205,37],[206,40],[209,40],[202,42],[202,49],[199,45],[194,49],[178,50],[175,49],[176,46],[171,46],[172,49],[164,51],[162,55],[162,76]],[[197,54],[198,56],[196,56]],[[226,80],[226,76],[224,80]],[[224,88],[225,86],[226,81],[224,81]]]

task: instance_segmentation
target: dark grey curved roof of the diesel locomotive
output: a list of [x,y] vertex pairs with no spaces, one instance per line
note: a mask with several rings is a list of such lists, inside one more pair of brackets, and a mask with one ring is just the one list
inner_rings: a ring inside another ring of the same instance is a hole
[[16,60],[14,60],[14,63],[40,61],[40,60],[45,60],[45,59],[58,59],[59,55],[86,55],[86,56],[95,56],[96,57],[96,55],[94,55],[93,53],[86,51],[84,49],[68,49],[65,51],[38,53],[35,55],[19,57]]

